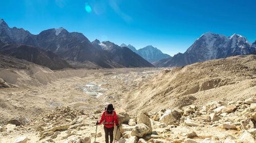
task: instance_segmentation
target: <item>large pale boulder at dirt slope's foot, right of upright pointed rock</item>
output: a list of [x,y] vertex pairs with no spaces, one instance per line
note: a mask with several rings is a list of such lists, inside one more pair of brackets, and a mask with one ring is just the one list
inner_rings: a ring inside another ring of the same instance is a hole
[[159,121],[161,123],[173,124],[176,121],[179,121],[181,116],[181,113],[177,110],[166,110],[164,115],[160,117]]

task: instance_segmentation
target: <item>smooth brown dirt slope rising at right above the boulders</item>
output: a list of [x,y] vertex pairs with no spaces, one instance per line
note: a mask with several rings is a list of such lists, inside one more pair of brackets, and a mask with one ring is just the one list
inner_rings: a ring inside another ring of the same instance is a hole
[[256,93],[256,55],[195,63],[165,70],[127,97],[131,112],[160,110]]

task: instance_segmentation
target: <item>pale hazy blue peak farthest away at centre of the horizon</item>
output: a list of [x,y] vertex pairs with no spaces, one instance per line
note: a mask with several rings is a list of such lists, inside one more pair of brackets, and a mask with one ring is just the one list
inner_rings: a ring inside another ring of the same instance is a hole
[[156,47],[153,47],[151,45],[148,45],[148,46],[138,49],[138,50],[136,50],[136,48],[130,44],[129,45],[121,44],[120,46],[127,47],[127,48],[131,49],[132,51],[136,52],[142,58],[144,58],[146,61],[148,61],[150,63],[171,57],[170,55],[162,53],[161,50],[159,50]]

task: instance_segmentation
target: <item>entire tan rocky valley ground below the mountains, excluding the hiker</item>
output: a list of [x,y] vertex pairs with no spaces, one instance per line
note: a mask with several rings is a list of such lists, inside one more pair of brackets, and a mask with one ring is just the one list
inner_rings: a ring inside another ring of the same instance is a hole
[[104,142],[95,123],[108,103],[120,143],[256,142],[255,66],[248,55],[173,69],[3,69],[0,142]]

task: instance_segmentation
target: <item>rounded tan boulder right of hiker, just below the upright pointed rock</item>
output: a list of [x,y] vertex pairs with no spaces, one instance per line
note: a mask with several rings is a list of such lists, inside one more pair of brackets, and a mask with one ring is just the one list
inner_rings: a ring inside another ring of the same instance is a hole
[[137,124],[135,128],[132,130],[131,135],[132,136],[137,136],[137,137],[143,137],[147,134],[151,134],[152,130],[150,127],[148,127],[145,124]]

